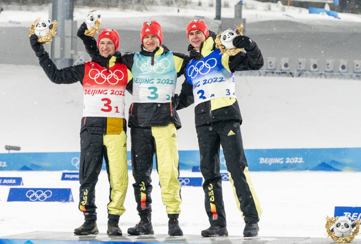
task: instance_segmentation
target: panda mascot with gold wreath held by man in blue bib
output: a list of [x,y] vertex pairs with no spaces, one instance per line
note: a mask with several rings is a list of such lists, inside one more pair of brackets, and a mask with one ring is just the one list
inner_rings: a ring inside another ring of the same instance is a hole
[[[243,24],[237,25],[236,30],[225,30],[216,37],[216,48],[221,50],[221,53],[234,56],[242,51],[243,48],[237,48],[233,45],[233,39],[237,36],[242,36]],[[245,37],[248,38],[248,37]],[[249,38],[248,38],[249,39]],[[249,39],[251,42],[252,40]]]

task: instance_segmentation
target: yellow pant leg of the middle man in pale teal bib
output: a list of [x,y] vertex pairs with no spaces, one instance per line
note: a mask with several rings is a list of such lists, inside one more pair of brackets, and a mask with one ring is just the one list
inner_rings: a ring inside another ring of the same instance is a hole
[[180,183],[177,129],[173,123],[152,127],[156,142],[160,192],[167,214],[180,213]]

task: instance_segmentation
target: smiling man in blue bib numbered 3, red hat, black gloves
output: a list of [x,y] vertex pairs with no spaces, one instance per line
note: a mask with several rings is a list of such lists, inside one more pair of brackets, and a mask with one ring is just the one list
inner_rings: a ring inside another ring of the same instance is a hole
[[244,48],[235,56],[215,49],[215,33],[203,20],[192,20],[187,26],[191,61],[186,67],[187,81],[180,92],[181,109],[195,103],[195,122],[204,178],[205,210],[211,226],[202,230],[204,237],[228,236],[222,200],[220,146],[233,184],[236,203],[246,223],[243,236],[257,236],[261,206],[253,189],[244,156],[241,137],[241,112],[236,99],[234,72],[258,70],[263,58],[257,44],[248,37],[233,40]]

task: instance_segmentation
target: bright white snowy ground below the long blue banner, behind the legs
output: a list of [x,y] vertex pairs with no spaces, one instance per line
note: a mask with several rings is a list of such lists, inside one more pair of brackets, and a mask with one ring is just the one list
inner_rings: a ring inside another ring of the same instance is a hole
[[[71,188],[74,203],[6,202],[8,186],[0,186],[0,236],[31,231],[72,232],[83,223],[78,210],[79,182],[60,181],[61,172],[3,171],[2,177],[22,177],[23,187]],[[129,175],[128,192],[120,217],[120,228],[126,230],[139,221],[134,200],[133,177]],[[200,173],[181,171],[181,176],[201,177]],[[326,237],[326,216],[333,216],[334,206],[360,204],[357,182],[361,172],[251,172],[252,182],[263,210],[260,236]],[[167,215],[161,203],[158,174],[153,172],[152,223],[156,234],[167,234]],[[223,201],[230,236],[241,236],[244,222],[234,199],[231,184],[223,182]],[[106,172],[100,173],[96,187],[98,228],[106,232],[108,188]],[[200,235],[208,228],[201,187],[182,187],[180,226],[184,234]],[[360,237],[356,237],[360,238]]]

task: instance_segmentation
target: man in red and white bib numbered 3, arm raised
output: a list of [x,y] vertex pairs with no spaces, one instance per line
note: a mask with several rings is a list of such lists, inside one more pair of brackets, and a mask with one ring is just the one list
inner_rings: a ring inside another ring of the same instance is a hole
[[57,84],[80,81],[84,89],[83,118],[80,129],[80,201],[79,209],[85,222],[74,230],[76,235],[98,234],[95,185],[105,159],[110,195],[107,234],[122,235],[119,217],[128,188],[126,121],[124,92],[132,73],[114,56],[119,47],[119,35],[113,29],[103,29],[98,37],[101,56],[91,62],[58,69],[44,51],[38,37],[32,35],[30,44],[39,58],[40,66],[49,79]]

